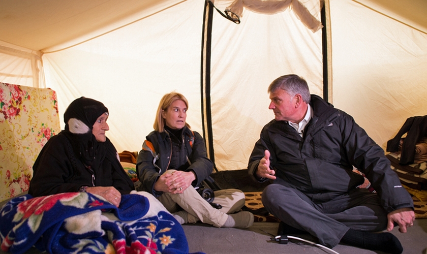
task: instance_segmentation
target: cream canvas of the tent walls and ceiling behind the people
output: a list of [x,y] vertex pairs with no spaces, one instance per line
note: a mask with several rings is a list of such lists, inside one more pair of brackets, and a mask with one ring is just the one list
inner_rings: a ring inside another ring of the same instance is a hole
[[[232,2],[214,4],[224,11]],[[323,2],[299,2],[321,19]],[[0,82],[54,89],[61,117],[80,96],[102,101],[118,151],[140,150],[170,91],[187,97],[187,120],[201,133],[204,4],[0,0]],[[329,0],[325,8],[328,100],[385,148],[406,118],[426,114],[427,3]],[[247,167],[262,126],[273,118],[267,94],[273,79],[298,74],[323,96],[322,30],[308,28],[292,8],[269,15],[245,8],[240,20],[216,12],[213,20],[210,96],[219,170]]]

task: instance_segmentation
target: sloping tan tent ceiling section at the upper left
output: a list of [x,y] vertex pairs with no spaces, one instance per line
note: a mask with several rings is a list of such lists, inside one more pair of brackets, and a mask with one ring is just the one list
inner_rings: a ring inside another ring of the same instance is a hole
[[[0,0],[0,40],[32,50],[100,35],[185,0]],[[132,20],[133,18],[133,20]]]

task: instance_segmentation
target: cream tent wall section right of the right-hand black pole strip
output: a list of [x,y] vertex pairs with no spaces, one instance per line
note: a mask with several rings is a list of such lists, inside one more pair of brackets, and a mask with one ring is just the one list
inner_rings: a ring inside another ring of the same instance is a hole
[[413,22],[399,16],[409,4],[394,2],[329,1],[333,105],[384,149],[408,117],[427,114],[427,26],[417,18],[427,2],[413,1]]

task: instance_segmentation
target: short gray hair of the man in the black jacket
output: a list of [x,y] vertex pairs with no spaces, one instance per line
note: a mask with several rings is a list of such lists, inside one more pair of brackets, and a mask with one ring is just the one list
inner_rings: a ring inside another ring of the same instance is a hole
[[277,89],[283,89],[294,97],[297,93],[301,94],[302,101],[309,104],[311,100],[310,89],[307,81],[295,74],[288,74],[275,79],[268,86],[268,93],[275,92]]

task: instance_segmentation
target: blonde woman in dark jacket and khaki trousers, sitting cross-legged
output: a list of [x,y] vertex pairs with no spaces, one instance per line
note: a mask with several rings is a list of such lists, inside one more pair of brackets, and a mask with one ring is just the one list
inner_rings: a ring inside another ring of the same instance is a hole
[[148,134],[138,154],[136,168],[143,190],[157,197],[181,224],[200,220],[218,228],[252,226],[254,215],[239,211],[245,204],[240,190],[217,190],[214,203],[220,209],[197,192],[213,164],[203,138],[186,122],[187,109],[187,99],[177,92],[165,94],[160,101],[155,131]]

